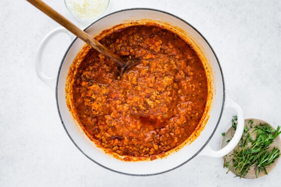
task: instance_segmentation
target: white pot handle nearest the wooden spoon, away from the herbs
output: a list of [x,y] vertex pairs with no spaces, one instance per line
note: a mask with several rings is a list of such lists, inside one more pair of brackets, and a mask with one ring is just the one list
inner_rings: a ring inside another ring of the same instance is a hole
[[53,39],[54,36],[56,36],[59,33],[65,33],[69,36],[70,40],[72,41],[74,39],[74,35],[71,34],[68,30],[66,30],[63,27],[58,27],[51,32],[49,32],[41,41],[39,44],[38,50],[36,52],[35,56],[35,70],[37,73],[37,76],[46,83],[53,91],[55,91],[55,85],[56,85],[56,78],[57,75],[53,77],[46,76],[43,72],[43,55],[45,52],[45,49],[47,47],[47,44]]

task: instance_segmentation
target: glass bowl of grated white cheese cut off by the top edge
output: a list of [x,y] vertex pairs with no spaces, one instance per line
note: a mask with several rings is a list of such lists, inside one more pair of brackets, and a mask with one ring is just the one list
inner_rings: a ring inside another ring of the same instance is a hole
[[91,20],[100,16],[108,4],[109,0],[65,0],[67,9],[82,20]]

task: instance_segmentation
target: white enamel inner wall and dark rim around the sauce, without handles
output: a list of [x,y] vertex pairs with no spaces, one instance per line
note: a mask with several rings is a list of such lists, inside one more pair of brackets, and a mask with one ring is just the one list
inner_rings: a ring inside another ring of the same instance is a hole
[[101,18],[90,25],[86,29],[86,32],[94,36],[115,25],[139,20],[151,20],[153,22],[166,23],[171,25],[173,28],[181,30],[181,32],[184,32],[191,41],[196,43],[198,49],[204,54],[206,58],[205,60],[208,62],[210,67],[209,71],[211,71],[213,76],[213,97],[211,101],[211,108],[208,113],[209,119],[199,137],[197,137],[191,144],[185,145],[179,151],[170,154],[168,157],[152,161],[121,161],[105,154],[103,150],[97,148],[95,144],[83,133],[79,125],[77,125],[73,120],[72,114],[69,112],[66,105],[65,84],[68,70],[77,53],[84,45],[84,42],[79,39],[75,39],[72,42],[62,60],[57,79],[56,97],[59,114],[64,128],[73,143],[83,154],[95,163],[112,171],[130,175],[151,175],[163,173],[181,166],[196,156],[209,142],[216,130],[222,114],[225,97],[224,82],[216,55],[205,38],[190,24],[171,14],[151,9],[123,10]]

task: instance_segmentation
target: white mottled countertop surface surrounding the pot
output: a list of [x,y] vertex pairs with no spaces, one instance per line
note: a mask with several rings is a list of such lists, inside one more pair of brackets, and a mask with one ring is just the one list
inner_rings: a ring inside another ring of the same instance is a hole
[[[45,1],[79,27],[63,1]],[[281,125],[281,1],[111,0],[105,14],[126,8],[153,8],[193,25],[213,47],[226,93],[244,111]],[[154,176],[109,171],[85,157],[67,136],[55,94],[35,72],[39,43],[60,27],[26,1],[0,4],[0,186],[278,186],[281,163],[258,179],[226,174],[221,158],[196,156]],[[69,40],[51,43],[46,71],[56,75]],[[224,116],[211,140],[230,125]]]

